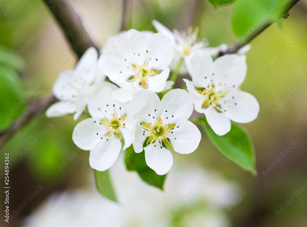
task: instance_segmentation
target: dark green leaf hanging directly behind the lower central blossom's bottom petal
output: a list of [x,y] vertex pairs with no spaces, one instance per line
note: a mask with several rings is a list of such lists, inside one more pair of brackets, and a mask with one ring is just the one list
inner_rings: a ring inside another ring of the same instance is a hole
[[166,174],[158,175],[154,170],[150,169],[146,164],[144,152],[135,153],[131,145],[126,149],[125,164],[128,170],[137,171],[146,183],[163,190]]

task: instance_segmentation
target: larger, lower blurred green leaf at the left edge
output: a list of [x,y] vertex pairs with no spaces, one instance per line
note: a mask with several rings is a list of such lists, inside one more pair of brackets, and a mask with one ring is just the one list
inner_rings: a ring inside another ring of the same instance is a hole
[[15,70],[0,66],[0,131],[16,119],[25,106],[21,81]]

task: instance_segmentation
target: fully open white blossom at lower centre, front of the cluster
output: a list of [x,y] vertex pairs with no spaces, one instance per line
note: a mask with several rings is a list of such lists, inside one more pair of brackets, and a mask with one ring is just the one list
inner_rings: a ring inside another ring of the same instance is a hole
[[159,99],[149,90],[140,93],[128,105],[134,113],[134,151],[143,151],[146,141],[147,165],[158,175],[166,174],[173,165],[172,153],[192,153],[199,145],[201,134],[188,118],[193,112],[193,102],[182,89],[173,89]]

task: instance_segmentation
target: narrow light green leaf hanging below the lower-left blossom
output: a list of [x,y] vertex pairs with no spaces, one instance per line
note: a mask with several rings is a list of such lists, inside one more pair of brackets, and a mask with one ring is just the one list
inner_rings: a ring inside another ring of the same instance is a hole
[[99,193],[104,197],[107,197],[108,199],[117,202],[108,170],[100,172],[94,169],[94,172],[96,187]]

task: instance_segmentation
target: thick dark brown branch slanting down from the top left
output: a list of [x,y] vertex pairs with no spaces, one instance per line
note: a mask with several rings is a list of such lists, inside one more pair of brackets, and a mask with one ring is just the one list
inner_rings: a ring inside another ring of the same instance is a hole
[[94,46],[99,52],[99,47],[91,40],[91,36],[84,29],[80,16],[76,13],[72,1],[44,0],[50,11],[58,21],[63,33],[72,49],[79,58],[89,47]]

